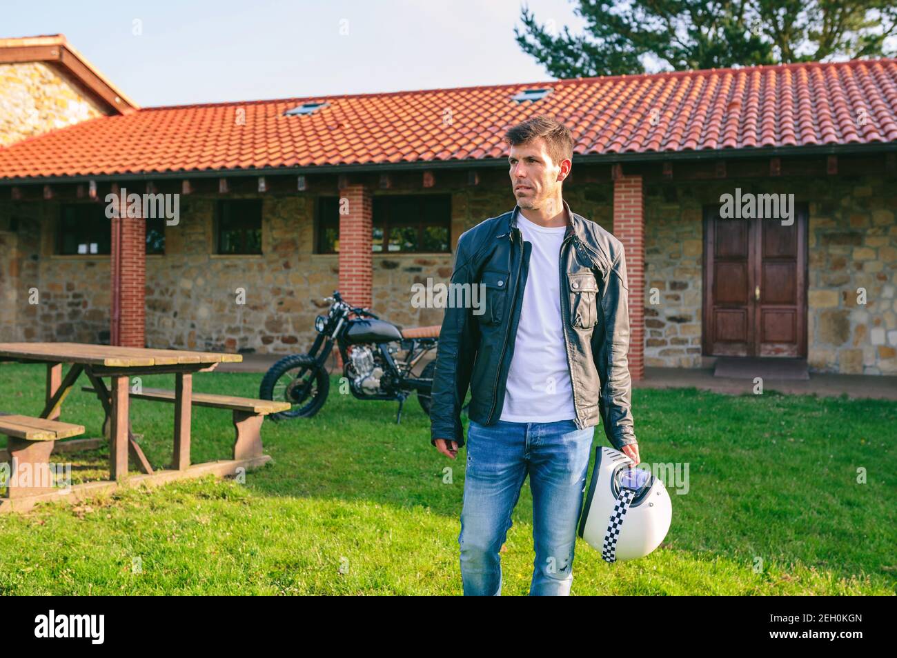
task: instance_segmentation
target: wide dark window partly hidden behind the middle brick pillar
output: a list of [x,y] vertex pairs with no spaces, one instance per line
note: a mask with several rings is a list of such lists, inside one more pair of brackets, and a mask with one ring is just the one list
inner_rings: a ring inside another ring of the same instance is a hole
[[[374,253],[451,251],[449,195],[375,196],[371,250]],[[339,199],[318,199],[318,254],[339,252]]]

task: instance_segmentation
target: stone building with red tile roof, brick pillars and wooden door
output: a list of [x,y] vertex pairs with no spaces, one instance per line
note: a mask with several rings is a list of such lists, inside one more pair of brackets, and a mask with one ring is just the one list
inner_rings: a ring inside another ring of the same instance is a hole
[[626,250],[633,377],[897,374],[894,60],[137,108],[65,38],[5,39],[0,110],[0,341],[300,351],[337,289],[440,324],[414,284],[514,207],[502,135],[549,114]]

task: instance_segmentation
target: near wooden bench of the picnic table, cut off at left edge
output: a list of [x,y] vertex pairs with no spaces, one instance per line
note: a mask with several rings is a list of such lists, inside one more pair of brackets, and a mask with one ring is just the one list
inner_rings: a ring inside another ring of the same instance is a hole
[[[6,459],[10,462],[11,475],[10,481],[6,482],[6,496],[24,498],[57,490],[52,486],[49,469],[53,444],[60,438],[77,437],[83,433],[83,425],[0,412],[0,434],[8,437]],[[26,484],[12,477],[13,474],[25,477],[26,472]]]

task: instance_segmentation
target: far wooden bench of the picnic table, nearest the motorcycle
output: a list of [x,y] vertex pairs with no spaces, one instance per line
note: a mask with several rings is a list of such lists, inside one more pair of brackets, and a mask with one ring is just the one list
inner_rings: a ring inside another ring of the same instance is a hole
[[[84,386],[82,390],[86,393],[96,394],[96,389],[91,386]],[[144,388],[140,393],[132,391],[129,395],[136,400],[175,402],[175,392],[164,388]],[[234,459],[249,459],[262,455],[262,421],[269,413],[289,411],[292,407],[292,404],[286,402],[277,403],[272,400],[196,392],[191,395],[191,402],[196,407],[233,411],[233,427],[237,435],[233,444]],[[106,424],[108,423],[109,419],[106,420]],[[106,424],[104,424],[104,428]]]

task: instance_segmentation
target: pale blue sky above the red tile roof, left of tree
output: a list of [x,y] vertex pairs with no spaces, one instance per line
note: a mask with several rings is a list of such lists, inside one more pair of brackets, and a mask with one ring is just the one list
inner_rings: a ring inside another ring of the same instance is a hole
[[[552,80],[514,40],[520,0],[16,2],[0,37],[65,34],[140,106]],[[578,33],[570,0],[527,0]]]

